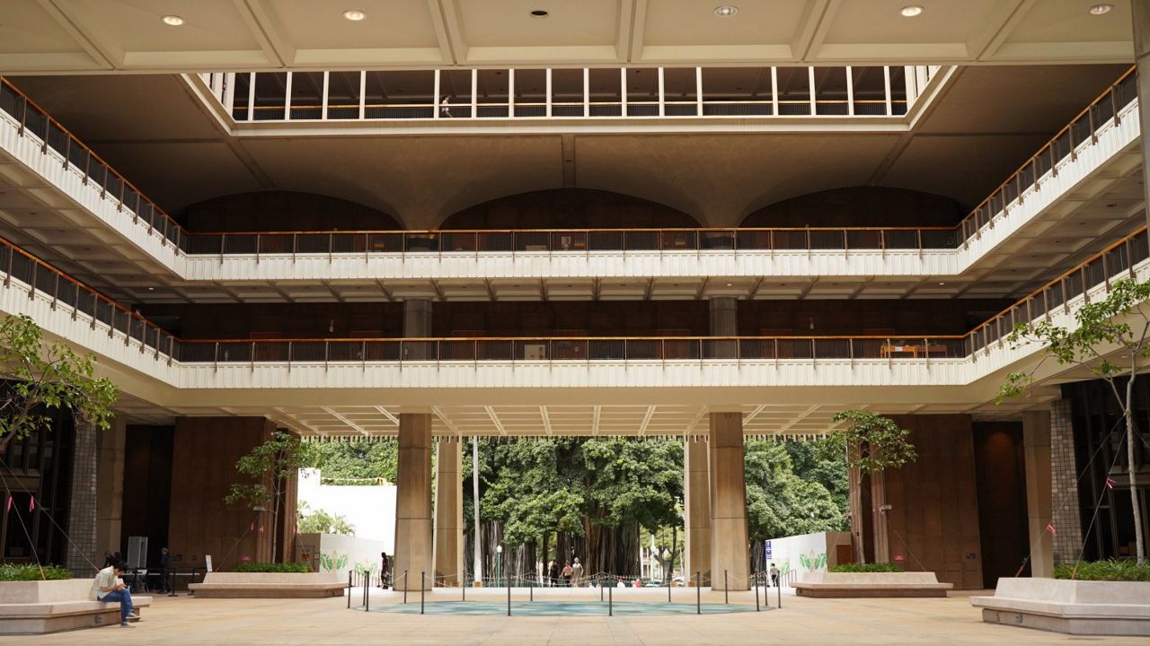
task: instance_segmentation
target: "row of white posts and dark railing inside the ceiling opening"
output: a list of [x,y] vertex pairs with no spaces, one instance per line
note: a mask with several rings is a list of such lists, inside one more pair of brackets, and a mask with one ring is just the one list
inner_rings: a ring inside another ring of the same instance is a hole
[[[199,75],[199,80],[235,123],[890,117],[905,115],[942,69],[887,66],[213,72]],[[745,77],[745,82],[731,82],[731,75]],[[831,78],[835,82],[827,83]],[[829,90],[831,86],[835,89]],[[444,97],[447,102],[443,102]]]

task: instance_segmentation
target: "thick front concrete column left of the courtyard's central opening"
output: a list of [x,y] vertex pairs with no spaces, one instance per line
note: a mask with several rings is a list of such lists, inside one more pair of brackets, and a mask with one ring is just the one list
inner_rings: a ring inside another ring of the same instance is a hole
[[[396,590],[429,590],[431,551],[431,415],[399,415],[399,482],[396,491]],[[404,579],[407,571],[407,579]],[[427,575],[421,584],[420,572]]]

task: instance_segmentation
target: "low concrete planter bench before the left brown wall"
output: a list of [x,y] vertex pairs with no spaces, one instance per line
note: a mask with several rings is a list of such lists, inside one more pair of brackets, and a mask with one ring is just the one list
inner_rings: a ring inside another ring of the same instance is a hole
[[208,572],[187,587],[201,599],[319,599],[343,595],[347,582],[336,572]]

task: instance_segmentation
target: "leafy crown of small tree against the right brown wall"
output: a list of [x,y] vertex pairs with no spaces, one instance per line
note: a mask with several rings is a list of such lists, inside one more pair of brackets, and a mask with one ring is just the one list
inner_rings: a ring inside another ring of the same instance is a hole
[[848,467],[864,474],[877,474],[898,469],[919,457],[910,440],[911,431],[890,417],[868,410],[843,410],[835,413],[830,420],[848,424],[819,441],[819,455],[823,460],[842,460],[845,456]]

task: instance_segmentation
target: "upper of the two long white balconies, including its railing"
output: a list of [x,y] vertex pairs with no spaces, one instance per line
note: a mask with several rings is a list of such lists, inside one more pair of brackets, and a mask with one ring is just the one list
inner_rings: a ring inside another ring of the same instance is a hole
[[[136,262],[145,279],[358,282],[390,299],[477,294],[442,284],[452,280],[744,277],[749,291],[739,295],[754,298],[764,276],[958,277],[1015,261],[1027,244],[1049,252],[1042,236],[1051,231],[1048,237],[1114,236],[1065,226],[1074,210],[1058,205],[1067,197],[1082,203],[1134,180],[1141,167],[1136,114],[1134,76],[1127,72],[951,229],[190,233],[7,82],[0,84],[0,151],[15,163],[0,168],[17,189],[67,212],[71,225],[122,237],[135,249],[124,262]],[[60,194],[47,194],[48,187]],[[1130,230],[1127,221],[1107,222],[1119,222],[1116,231]],[[70,245],[69,260],[85,260],[83,248]],[[1056,257],[1042,262],[1058,266]],[[412,280],[425,284],[401,284]]]

